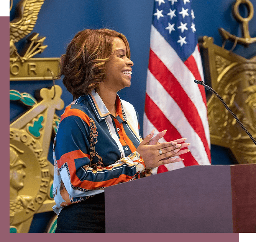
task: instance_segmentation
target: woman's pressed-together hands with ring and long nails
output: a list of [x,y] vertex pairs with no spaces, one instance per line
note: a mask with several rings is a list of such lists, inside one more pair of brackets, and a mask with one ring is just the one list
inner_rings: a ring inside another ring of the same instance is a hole
[[184,143],[186,138],[173,140],[171,142],[158,143],[158,140],[161,139],[165,133],[166,130],[160,132],[152,139],[154,135],[153,130],[139,144],[136,151],[143,158],[146,169],[182,161],[184,159],[174,157],[190,151],[189,149],[182,149],[190,145],[190,143]]

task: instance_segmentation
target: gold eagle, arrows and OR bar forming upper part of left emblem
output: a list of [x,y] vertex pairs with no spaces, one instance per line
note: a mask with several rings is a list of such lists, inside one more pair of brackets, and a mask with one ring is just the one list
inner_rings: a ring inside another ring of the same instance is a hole
[[[10,81],[51,80],[50,69],[56,76],[59,58],[32,58],[43,53],[46,37],[32,33],[44,0],[20,0],[16,5],[16,16],[10,21]],[[10,0],[10,11],[13,0]],[[28,36],[30,34],[30,36]],[[25,47],[18,53],[15,43],[27,37]]]

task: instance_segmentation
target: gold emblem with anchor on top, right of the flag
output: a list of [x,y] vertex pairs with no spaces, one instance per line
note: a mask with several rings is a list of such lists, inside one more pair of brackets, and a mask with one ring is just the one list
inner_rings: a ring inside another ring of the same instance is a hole
[[[248,8],[248,18],[242,18],[238,12],[241,3],[245,3]],[[199,44],[203,59],[209,66],[206,75],[211,79],[212,88],[223,97],[228,107],[255,139],[256,56],[248,60],[232,52],[236,44],[248,46],[256,42],[256,37],[251,38],[248,29],[248,21],[253,17],[253,5],[249,0],[236,0],[233,15],[242,23],[243,38],[220,29],[224,38],[222,47],[213,44],[213,38],[207,36],[200,39]],[[226,40],[234,42],[231,50],[224,48]],[[256,146],[253,140],[215,95],[210,97],[207,106],[211,143],[230,148],[238,163],[256,163]]]

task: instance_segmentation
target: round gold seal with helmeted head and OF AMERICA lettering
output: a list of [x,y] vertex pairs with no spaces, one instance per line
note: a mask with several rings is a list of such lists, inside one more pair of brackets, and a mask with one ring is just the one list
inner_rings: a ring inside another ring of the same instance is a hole
[[10,128],[10,225],[30,218],[48,195],[50,171],[38,140]]

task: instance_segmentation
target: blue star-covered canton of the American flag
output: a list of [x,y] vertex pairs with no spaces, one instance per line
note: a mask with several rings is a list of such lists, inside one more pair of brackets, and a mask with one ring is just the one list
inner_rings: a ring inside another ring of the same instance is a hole
[[154,2],[153,26],[174,48],[183,62],[195,51],[197,45],[191,2],[192,0]]

